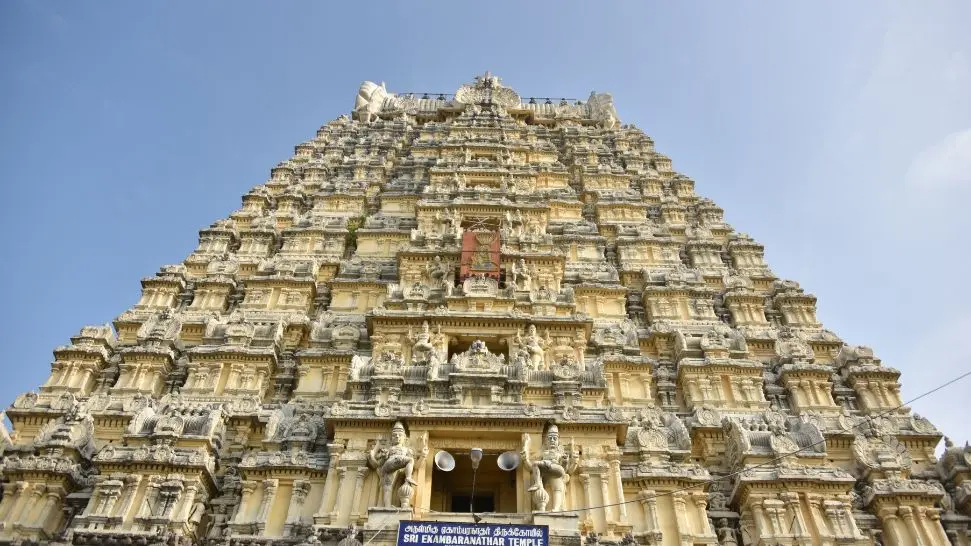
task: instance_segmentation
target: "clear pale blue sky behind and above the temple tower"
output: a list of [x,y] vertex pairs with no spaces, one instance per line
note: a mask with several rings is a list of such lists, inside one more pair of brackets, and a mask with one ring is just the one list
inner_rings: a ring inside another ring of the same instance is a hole
[[[358,4],[0,2],[0,403],[362,80],[452,92],[484,70],[611,92],[905,398],[971,370],[971,3]],[[914,409],[963,443],[969,394]]]

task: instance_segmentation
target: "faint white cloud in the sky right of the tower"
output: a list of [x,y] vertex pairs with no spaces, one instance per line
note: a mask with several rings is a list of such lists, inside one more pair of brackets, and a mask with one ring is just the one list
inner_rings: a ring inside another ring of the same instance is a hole
[[930,189],[971,186],[971,128],[951,133],[917,154],[907,182]]

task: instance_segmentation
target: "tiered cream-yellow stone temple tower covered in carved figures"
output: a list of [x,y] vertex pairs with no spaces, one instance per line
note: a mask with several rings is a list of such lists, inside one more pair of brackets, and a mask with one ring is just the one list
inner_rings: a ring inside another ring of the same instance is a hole
[[968,546],[971,448],[935,458],[899,375],[610,95],[365,82],[55,349],[0,541],[379,546],[471,506],[558,544]]

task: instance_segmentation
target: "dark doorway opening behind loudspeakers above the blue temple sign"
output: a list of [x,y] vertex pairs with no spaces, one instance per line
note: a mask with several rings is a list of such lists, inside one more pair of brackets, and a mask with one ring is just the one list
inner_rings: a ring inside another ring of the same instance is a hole
[[[475,477],[472,497],[472,461],[467,451],[452,451],[455,469],[432,473],[429,508],[438,512],[514,513],[516,512],[516,471],[506,472],[496,465],[499,453],[486,452]],[[470,507],[473,510],[470,510]]]

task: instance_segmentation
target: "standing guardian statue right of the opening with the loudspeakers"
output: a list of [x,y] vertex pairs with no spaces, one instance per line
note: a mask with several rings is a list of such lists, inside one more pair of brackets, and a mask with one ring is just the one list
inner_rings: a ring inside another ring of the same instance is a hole
[[[573,444],[564,448],[560,445],[560,431],[551,424],[546,430],[543,451],[540,459],[533,461],[529,455],[529,434],[523,434],[522,459],[526,470],[530,472],[530,485],[527,491],[532,493],[533,510],[545,512],[546,505],[552,499],[553,512],[564,509],[566,500],[566,484],[570,481],[570,474],[575,472],[580,464],[580,454],[574,451]],[[544,480],[550,486],[552,496],[546,492]]]

